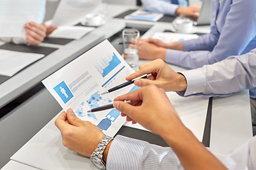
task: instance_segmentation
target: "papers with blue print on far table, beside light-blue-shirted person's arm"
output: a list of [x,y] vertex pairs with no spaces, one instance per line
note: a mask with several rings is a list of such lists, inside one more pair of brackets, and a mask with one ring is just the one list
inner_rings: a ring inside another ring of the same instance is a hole
[[146,20],[146,21],[159,21],[160,18],[164,16],[163,13],[153,13],[148,11],[143,11],[139,9],[133,13],[124,16],[125,19],[134,19],[134,20]]

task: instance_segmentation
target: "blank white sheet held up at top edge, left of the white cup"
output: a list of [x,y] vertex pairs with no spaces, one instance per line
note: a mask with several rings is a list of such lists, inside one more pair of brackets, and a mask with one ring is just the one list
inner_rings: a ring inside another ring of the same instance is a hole
[[53,16],[54,26],[73,26],[84,20],[87,13],[100,5],[101,0],[61,0]]

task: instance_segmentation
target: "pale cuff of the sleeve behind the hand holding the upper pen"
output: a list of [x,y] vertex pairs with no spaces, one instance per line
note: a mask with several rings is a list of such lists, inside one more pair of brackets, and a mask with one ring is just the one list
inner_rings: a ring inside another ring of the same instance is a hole
[[178,93],[183,94],[183,96],[189,96],[191,94],[199,94],[202,93],[206,89],[206,77],[198,69],[191,69],[188,71],[180,72],[186,77],[187,81],[187,88],[185,93]]

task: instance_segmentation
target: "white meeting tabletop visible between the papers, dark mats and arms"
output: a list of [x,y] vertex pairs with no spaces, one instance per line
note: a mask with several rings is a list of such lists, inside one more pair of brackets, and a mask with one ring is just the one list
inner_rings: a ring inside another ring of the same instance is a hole
[[[109,9],[109,15],[115,16],[134,7],[108,5],[107,8]],[[124,21],[120,18],[110,19],[105,26],[97,28],[81,40],[75,40],[68,45],[60,46],[59,50],[48,55],[43,60],[36,62],[36,64],[28,67],[28,69],[12,77],[4,82],[4,84],[1,84],[0,107],[4,106],[5,103],[11,101],[13,98],[16,98],[19,94],[22,94],[23,91],[31,88],[31,86],[37,84],[41,79],[47,77],[56,69],[73,60],[78,54],[85,52],[97,44],[97,42],[117,33],[118,30],[122,30],[125,25],[152,26],[149,32],[144,34],[143,38],[148,38],[156,31],[161,32],[171,27],[170,23]],[[201,30],[205,32],[207,29],[208,27],[202,27]],[[54,45],[46,43],[43,43],[42,46],[54,47]],[[35,70],[37,71],[35,72]],[[24,77],[26,78],[24,79]],[[17,84],[17,82],[19,83]],[[223,106],[223,104],[227,105]],[[95,166],[90,163],[89,159],[63,147],[60,132],[55,128],[53,121],[54,119],[14,154],[11,159],[19,162],[27,162],[31,166],[36,165],[34,167],[40,169],[85,169],[84,167],[86,169],[95,169]],[[213,98],[210,147],[217,152],[223,151],[223,153],[226,153],[235,149],[250,137],[252,137],[252,128],[248,92],[242,91],[228,98]],[[230,145],[230,142],[233,142],[233,145]]]

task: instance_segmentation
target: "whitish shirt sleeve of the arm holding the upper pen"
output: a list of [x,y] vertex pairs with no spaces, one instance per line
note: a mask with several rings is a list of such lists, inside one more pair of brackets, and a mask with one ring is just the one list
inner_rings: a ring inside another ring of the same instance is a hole
[[181,96],[226,96],[242,89],[252,89],[256,85],[256,49],[181,74],[187,81],[186,91],[177,92]]

